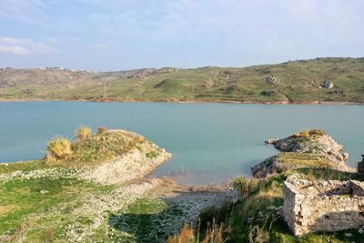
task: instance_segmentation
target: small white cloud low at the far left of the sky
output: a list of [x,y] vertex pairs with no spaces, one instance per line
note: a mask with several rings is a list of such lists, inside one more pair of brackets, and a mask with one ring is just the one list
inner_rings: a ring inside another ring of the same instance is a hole
[[58,50],[29,38],[0,37],[0,52],[13,55],[54,54]]

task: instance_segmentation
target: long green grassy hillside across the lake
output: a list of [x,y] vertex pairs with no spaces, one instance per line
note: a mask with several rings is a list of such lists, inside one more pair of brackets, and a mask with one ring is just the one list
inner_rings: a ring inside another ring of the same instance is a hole
[[364,102],[364,58],[248,67],[0,70],[0,100]]

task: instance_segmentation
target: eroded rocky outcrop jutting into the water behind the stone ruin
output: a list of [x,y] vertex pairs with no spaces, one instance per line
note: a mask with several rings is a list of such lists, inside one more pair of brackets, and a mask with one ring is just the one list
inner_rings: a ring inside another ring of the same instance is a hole
[[349,154],[327,133],[308,130],[290,137],[265,141],[282,153],[268,157],[251,168],[253,177],[267,177],[298,167],[330,167],[339,171],[354,172],[346,164]]

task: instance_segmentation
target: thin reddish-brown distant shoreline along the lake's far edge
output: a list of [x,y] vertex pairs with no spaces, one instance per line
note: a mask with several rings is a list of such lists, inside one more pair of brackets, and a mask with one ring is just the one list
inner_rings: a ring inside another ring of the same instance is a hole
[[0,99],[0,103],[10,102],[99,102],[99,103],[220,103],[220,104],[242,104],[242,105],[342,105],[342,106],[363,106],[364,102],[351,102],[351,101],[302,101],[302,102],[289,102],[289,101],[238,101],[238,100],[204,100],[204,99],[187,99],[187,100],[150,100],[150,99],[133,99],[133,100],[72,100],[72,99]]

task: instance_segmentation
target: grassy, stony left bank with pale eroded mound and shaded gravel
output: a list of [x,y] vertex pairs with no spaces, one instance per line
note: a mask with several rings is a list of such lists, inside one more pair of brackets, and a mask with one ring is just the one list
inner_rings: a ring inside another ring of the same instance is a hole
[[172,155],[132,132],[80,127],[45,159],[0,165],[0,242],[165,242],[233,190],[147,178]]

